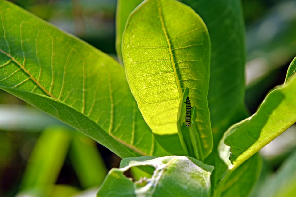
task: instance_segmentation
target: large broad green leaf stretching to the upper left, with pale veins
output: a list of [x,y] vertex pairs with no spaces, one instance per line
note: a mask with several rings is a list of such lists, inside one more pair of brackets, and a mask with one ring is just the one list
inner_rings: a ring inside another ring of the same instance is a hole
[[1,89],[121,157],[134,156],[125,146],[140,155],[167,155],[116,61],[9,2],[1,0],[0,10]]

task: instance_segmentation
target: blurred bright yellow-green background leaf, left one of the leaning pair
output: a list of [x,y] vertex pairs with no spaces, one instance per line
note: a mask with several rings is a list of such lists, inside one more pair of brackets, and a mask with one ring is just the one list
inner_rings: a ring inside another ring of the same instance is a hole
[[70,131],[63,127],[49,127],[41,133],[24,172],[22,190],[55,184],[71,140]]

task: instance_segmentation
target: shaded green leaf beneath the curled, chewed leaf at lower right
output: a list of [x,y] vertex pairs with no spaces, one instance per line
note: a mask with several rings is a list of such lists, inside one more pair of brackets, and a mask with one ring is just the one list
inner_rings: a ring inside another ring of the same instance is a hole
[[255,154],[227,177],[221,197],[249,196],[259,179],[261,167],[262,159],[259,154]]

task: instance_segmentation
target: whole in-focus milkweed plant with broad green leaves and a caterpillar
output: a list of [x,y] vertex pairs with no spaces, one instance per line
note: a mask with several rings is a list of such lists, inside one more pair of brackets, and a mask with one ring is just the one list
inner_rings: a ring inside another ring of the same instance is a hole
[[118,0],[118,61],[10,2],[0,10],[0,88],[122,158],[98,197],[248,196],[257,152],[296,121],[295,59],[245,110],[239,0]]

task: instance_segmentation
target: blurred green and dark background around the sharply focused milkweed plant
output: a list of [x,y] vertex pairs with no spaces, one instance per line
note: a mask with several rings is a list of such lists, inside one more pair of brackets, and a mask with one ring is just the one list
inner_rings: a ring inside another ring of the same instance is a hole
[[[116,58],[116,0],[11,2]],[[252,114],[266,93],[284,82],[296,56],[296,1],[242,0],[242,5],[245,102]],[[292,126],[261,150],[261,184],[252,196],[264,196],[262,191],[275,179],[274,172],[284,176],[280,173],[288,169],[289,180],[296,180],[296,167],[289,166],[296,160],[295,141]],[[93,196],[109,169],[119,162],[120,158],[80,132],[0,91],[0,196]],[[286,164],[279,168],[282,162]],[[276,192],[265,196],[276,196]]]

